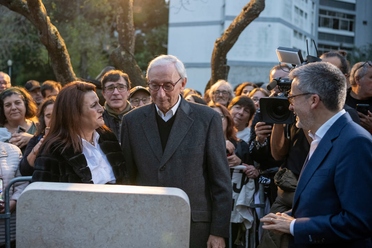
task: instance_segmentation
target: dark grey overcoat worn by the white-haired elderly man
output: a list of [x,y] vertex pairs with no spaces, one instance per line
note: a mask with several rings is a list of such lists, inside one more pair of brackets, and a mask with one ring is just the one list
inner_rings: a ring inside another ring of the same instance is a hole
[[131,182],[182,189],[192,221],[210,222],[210,234],[228,237],[232,186],[220,114],[182,97],[164,154],[155,115],[151,103],[122,119],[121,146]]

